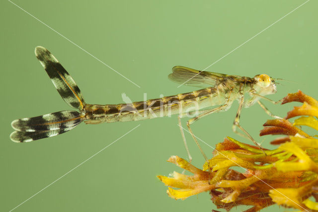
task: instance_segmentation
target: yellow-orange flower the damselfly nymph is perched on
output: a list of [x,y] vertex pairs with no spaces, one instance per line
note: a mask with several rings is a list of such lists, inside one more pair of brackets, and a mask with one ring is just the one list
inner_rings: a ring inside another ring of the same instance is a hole
[[[211,200],[218,208],[231,210],[240,205],[252,206],[248,211],[259,211],[273,204],[301,211],[318,210],[318,139],[298,126],[318,130],[318,101],[301,91],[288,94],[282,104],[301,102],[287,113],[285,119],[267,120],[260,135],[288,135],[273,140],[281,144],[277,149],[264,150],[226,138],[216,145],[214,156],[198,169],[178,156],[168,162],[188,170],[188,176],[173,172],[172,177],[158,176],[168,186],[173,199],[210,191]],[[306,116],[304,116],[306,115]],[[301,116],[288,121],[289,118]],[[232,167],[244,168],[244,173]],[[314,197],[316,201],[309,198]]]

